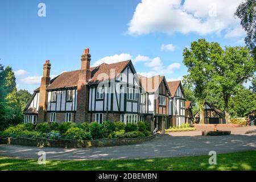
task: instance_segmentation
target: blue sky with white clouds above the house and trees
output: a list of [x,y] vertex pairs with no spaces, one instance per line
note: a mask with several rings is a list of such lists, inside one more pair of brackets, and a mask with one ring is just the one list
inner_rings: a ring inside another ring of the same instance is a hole
[[91,66],[131,59],[141,75],[181,80],[188,74],[183,49],[191,42],[245,46],[234,17],[243,1],[0,0],[0,64],[12,67],[17,88],[30,92],[40,85],[45,60],[53,78],[80,69],[87,47]]

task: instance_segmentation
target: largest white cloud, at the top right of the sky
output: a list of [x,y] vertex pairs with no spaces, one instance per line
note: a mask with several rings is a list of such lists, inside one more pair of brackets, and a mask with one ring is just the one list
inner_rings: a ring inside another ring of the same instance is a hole
[[[151,32],[220,34],[240,26],[234,12],[244,0],[142,0],[129,22],[130,35]],[[238,34],[237,36],[242,36]]]

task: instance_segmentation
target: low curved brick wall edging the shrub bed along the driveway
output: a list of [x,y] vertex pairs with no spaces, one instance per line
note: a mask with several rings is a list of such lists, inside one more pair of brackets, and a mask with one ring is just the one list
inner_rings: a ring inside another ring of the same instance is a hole
[[68,140],[68,139],[46,139],[46,138],[0,138],[0,144],[13,144],[19,146],[34,147],[59,147],[59,148],[83,148],[83,147],[108,147],[121,146],[127,144],[137,144],[146,142],[155,138],[155,135],[143,138],[126,138],[126,139],[97,139],[97,140]]

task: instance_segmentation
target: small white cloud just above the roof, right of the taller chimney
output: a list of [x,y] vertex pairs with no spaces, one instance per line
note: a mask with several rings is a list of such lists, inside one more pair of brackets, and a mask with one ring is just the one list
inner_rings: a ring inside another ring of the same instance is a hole
[[133,56],[131,56],[129,53],[121,53],[120,55],[103,57],[100,60],[97,60],[92,66],[96,67],[102,63],[112,64],[119,61],[131,60],[132,58]]

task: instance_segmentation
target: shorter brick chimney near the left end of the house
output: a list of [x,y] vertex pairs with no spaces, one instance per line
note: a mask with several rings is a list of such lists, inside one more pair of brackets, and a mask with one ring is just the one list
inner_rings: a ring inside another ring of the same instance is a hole
[[47,109],[47,100],[48,100],[48,92],[47,86],[51,82],[51,78],[49,77],[51,70],[51,64],[49,60],[46,60],[46,63],[43,65],[43,77],[40,85],[40,95],[39,95],[39,111],[38,111],[38,123],[42,123],[46,121],[46,109]]

